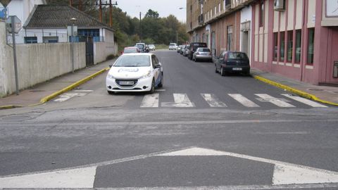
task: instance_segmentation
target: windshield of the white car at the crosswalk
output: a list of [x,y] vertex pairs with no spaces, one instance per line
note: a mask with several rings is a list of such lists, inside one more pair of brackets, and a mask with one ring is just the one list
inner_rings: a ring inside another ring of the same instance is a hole
[[150,56],[121,56],[114,67],[149,67]]

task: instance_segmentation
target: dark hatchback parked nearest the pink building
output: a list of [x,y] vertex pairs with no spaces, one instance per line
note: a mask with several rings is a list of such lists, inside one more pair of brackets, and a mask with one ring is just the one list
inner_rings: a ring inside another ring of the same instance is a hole
[[216,57],[215,72],[225,76],[227,72],[240,72],[250,75],[250,61],[246,53],[238,51],[223,51]]

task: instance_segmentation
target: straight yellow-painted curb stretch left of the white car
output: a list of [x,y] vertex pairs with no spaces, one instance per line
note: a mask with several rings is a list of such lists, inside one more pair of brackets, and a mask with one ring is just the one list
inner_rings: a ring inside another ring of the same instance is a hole
[[81,84],[83,84],[84,82],[87,82],[89,80],[92,80],[94,77],[96,77],[97,75],[100,75],[103,72],[106,72],[107,70],[109,70],[109,68],[104,68],[102,70],[99,70],[98,72],[95,72],[93,75],[89,75],[88,77],[85,77],[82,80],[79,80],[73,84],[70,84],[68,87],[65,87],[64,89],[61,89],[59,91],[54,92],[53,94],[50,94],[49,96],[46,96],[44,98],[42,98],[40,100],[40,103],[37,103],[35,105],[31,105],[31,106],[37,106],[39,104],[42,103],[46,103],[47,101],[50,101],[51,99],[54,99],[56,96],[65,93],[66,91],[70,91],[71,89],[74,89],[75,87],[80,86]]

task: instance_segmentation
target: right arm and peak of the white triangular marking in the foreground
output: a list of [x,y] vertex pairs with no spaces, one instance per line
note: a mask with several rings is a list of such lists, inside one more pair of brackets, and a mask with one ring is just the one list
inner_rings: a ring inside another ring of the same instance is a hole
[[282,161],[247,156],[239,153],[215,151],[206,148],[188,148],[171,153],[163,153],[157,156],[232,156],[246,160],[254,160],[262,163],[275,165],[273,184],[317,184],[317,183],[338,183],[338,172],[322,170],[305,165],[284,163]]

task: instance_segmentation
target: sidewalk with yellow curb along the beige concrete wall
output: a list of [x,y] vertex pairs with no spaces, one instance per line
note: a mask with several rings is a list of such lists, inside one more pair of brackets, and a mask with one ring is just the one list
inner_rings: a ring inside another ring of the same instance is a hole
[[73,87],[87,82],[87,80],[92,79],[92,77],[105,72],[109,63],[113,63],[113,61],[114,60],[105,61],[87,68],[76,70],[74,73],[70,72],[60,77],[56,77],[47,82],[43,82],[42,84],[37,84],[35,87],[30,89],[20,91],[19,95],[12,94],[11,96],[0,98],[0,110],[23,106],[34,106],[36,104],[49,101],[49,99],[54,98],[54,96],[58,96],[58,94],[62,94],[64,91],[68,91]]

